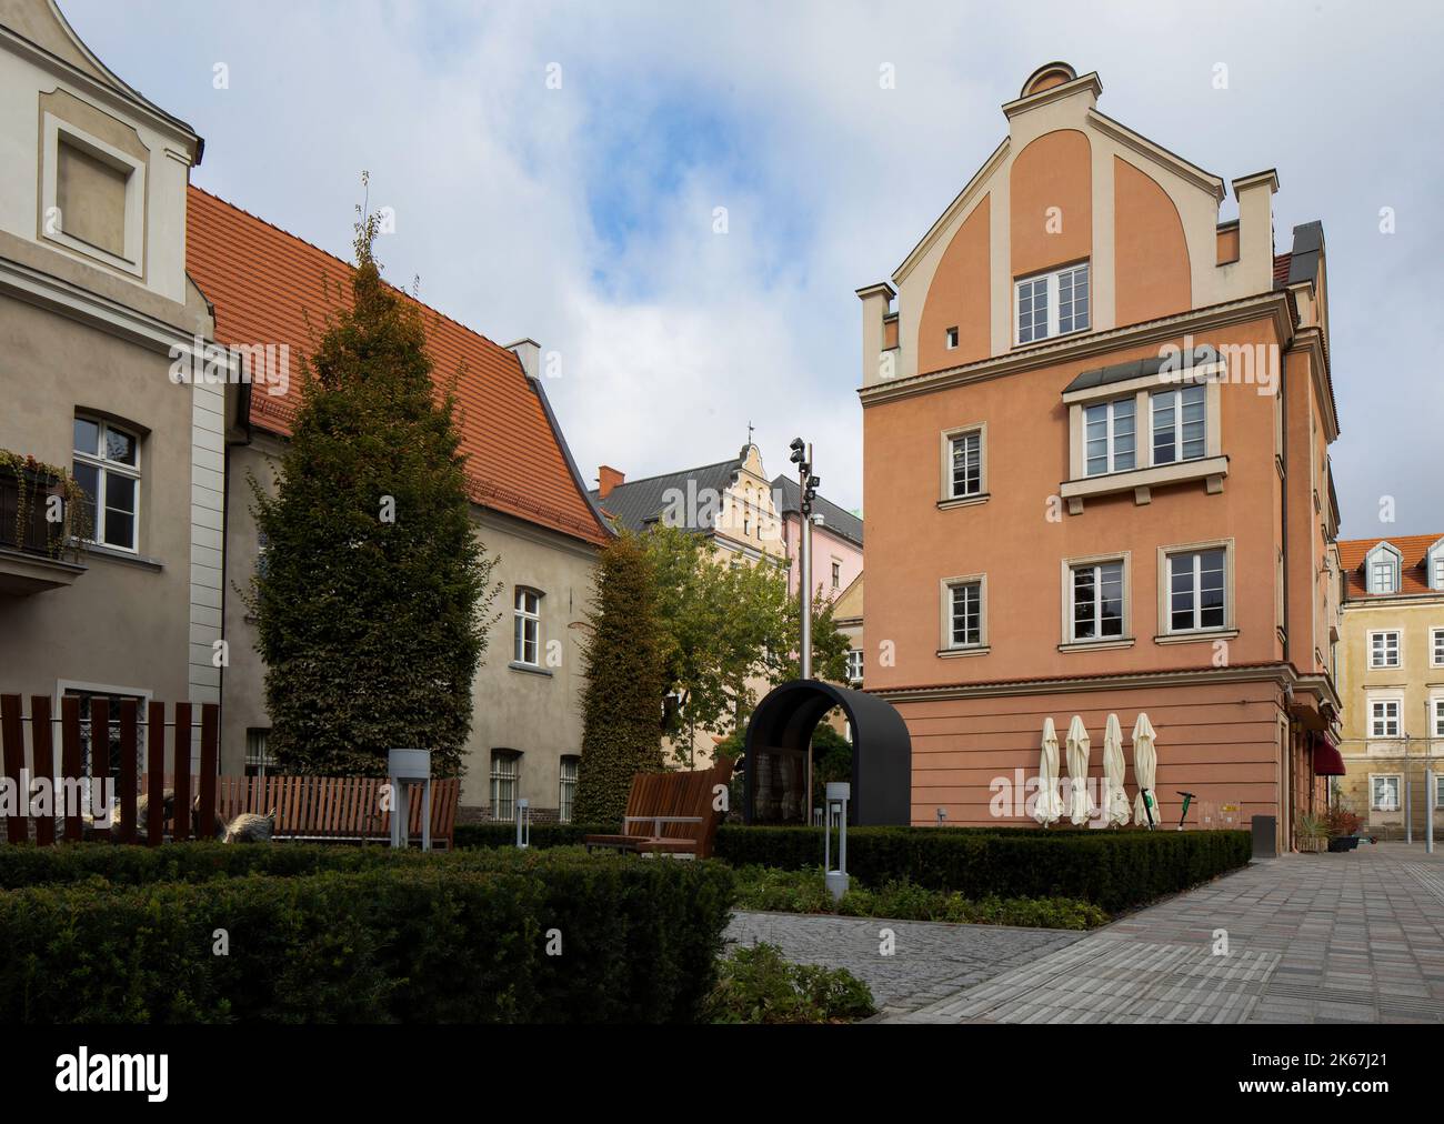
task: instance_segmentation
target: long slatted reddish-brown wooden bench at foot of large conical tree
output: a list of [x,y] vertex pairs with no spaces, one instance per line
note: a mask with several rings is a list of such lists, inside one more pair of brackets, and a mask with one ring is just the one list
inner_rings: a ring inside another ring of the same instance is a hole
[[[276,809],[276,839],[390,842],[391,813],[381,810],[386,783],[384,777],[221,776],[215,782],[215,813],[230,823],[243,812],[264,816]],[[420,784],[412,786],[412,841],[422,838],[422,792]],[[452,848],[459,797],[461,780],[432,782],[432,847]]]

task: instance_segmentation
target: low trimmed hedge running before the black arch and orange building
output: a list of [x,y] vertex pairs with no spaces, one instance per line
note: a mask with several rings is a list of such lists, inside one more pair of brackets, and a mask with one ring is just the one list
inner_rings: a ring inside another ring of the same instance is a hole
[[[464,835],[465,831],[465,835]],[[580,842],[570,823],[534,828],[533,847]],[[458,847],[516,842],[505,823],[456,828]],[[1087,828],[848,828],[848,871],[868,886],[911,881],[963,897],[1070,897],[1109,913],[1216,878],[1248,864],[1246,831],[1093,831]],[[734,867],[822,865],[822,828],[723,823],[716,857]]]

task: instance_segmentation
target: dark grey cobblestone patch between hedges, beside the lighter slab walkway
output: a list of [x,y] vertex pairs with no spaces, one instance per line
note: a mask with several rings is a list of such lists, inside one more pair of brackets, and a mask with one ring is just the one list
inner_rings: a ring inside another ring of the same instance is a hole
[[[884,929],[894,933],[891,956],[879,952]],[[796,913],[735,913],[726,930],[728,941],[742,945],[778,945],[790,961],[846,968],[868,982],[884,1016],[943,1001],[1082,936],[1057,929]]]

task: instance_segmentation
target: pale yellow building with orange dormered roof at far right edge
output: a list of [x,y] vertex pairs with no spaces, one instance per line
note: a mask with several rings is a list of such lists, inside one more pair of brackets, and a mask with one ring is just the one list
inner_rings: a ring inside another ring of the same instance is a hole
[[[1339,682],[1346,776],[1337,795],[1367,829],[1422,838],[1444,816],[1444,536],[1339,543]],[[1444,826],[1435,828],[1435,838]]]

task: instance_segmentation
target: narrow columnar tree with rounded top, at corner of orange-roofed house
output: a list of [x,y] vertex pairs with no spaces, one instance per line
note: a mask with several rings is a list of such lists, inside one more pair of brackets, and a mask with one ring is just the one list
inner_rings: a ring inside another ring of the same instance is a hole
[[634,535],[624,533],[599,552],[586,621],[575,816],[582,823],[619,823],[632,777],[661,769],[657,579]]

